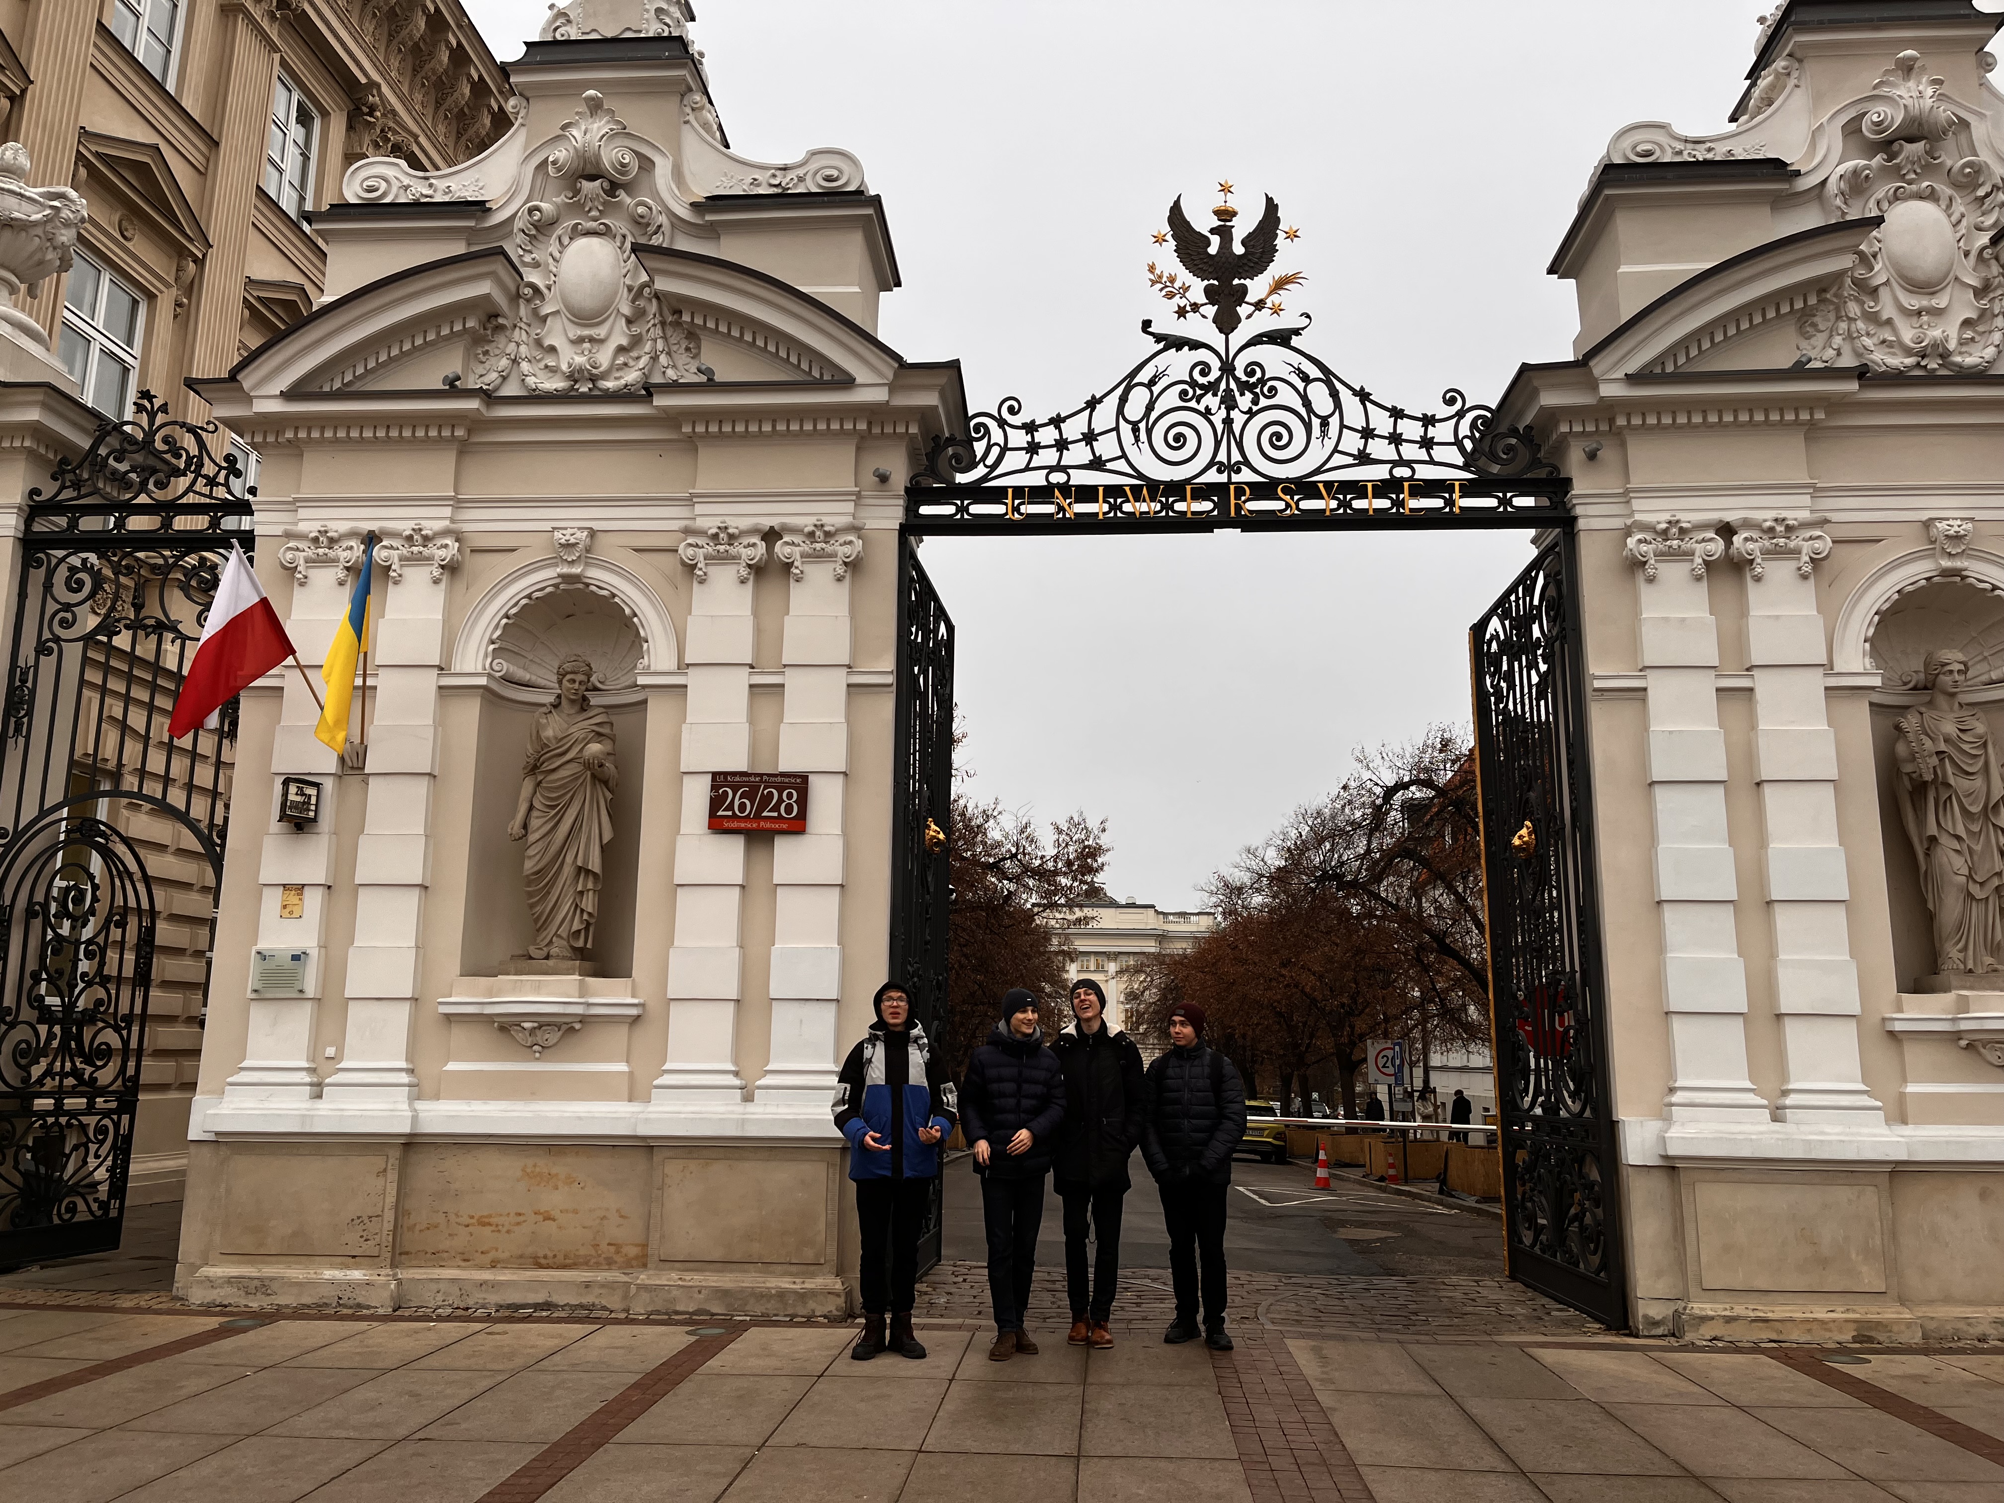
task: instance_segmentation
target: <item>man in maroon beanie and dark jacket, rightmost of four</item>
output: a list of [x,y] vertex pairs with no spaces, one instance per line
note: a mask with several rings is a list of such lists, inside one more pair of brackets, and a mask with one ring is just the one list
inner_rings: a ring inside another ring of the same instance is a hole
[[[1204,1044],[1204,1010],[1192,1002],[1168,1014],[1168,1054],[1148,1066],[1140,1150],[1162,1194],[1168,1277],[1176,1319],[1162,1341],[1196,1341],[1230,1351],[1224,1333],[1224,1202],[1232,1154],[1246,1134],[1246,1090],[1238,1068]],[[1198,1283],[1202,1257],[1202,1283]],[[1204,1329],[1196,1329],[1202,1293]]]

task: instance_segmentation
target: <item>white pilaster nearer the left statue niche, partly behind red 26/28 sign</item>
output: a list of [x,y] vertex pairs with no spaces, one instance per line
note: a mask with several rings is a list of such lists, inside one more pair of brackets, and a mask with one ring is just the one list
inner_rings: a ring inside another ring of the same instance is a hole
[[737,1004],[743,998],[745,836],[713,834],[709,774],[752,768],[752,615],[766,543],[717,523],[681,545],[693,569],[689,713],[681,727],[681,834],[675,838],[675,936],[667,952],[667,1060],[659,1106],[741,1102]]

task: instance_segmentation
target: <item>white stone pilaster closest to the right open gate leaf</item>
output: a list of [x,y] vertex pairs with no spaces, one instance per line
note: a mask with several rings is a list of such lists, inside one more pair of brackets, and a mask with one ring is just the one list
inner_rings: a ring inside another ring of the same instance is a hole
[[1641,669],[1649,705],[1649,806],[1655,816],[1663,1012],[1671,1122],[1766,1122],[1747,1074],[1745,962],[1733,928],[1739,896],[1725,828],[1719,633],[1705,567],[1725,553],[1711,523],[1637,521],[1627,557],[1641,569]]

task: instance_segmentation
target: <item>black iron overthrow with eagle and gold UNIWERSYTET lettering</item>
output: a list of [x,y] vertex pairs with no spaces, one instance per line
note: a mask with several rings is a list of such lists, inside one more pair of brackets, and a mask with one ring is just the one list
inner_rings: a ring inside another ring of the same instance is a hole
[[[1218,184],[1230,196],[1228,182]],[[1156,329],[1154,349],[1106,391],[1052,417],[1024,417],[1008,397],[968,419],[964,437],[932,441],[906,491],[906,519],[928,531],[1136,531],[1214,527],[1527,525],[1565,515],[1567,481],[1537,435],[1499,427],[1461,391],[1415,413],[1347,381],[1301,349],[1311,319],[1252,335],[1248,319],[1285,313],[1275,277],[1252,295],[1281,234],[1267,212],[1232,246],[1236,208],[1196,230],[1178,198],[1168,232],[1188,281],[1148,267],[1176,319],[1208,317],[1216,337]]]

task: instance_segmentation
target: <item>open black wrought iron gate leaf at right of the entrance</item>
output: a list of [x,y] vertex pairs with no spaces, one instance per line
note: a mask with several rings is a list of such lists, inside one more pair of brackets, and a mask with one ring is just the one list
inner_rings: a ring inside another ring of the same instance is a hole
[[1627,1327],[1571,529],[1471,629],[1511,1277]]

